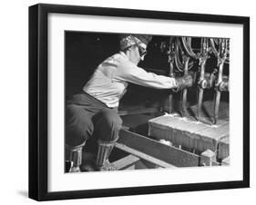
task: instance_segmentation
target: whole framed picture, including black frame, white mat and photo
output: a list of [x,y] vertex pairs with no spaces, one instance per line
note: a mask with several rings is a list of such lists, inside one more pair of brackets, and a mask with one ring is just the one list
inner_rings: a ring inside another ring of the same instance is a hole
[[29,7],[29,197],[249,186],[249,18]]

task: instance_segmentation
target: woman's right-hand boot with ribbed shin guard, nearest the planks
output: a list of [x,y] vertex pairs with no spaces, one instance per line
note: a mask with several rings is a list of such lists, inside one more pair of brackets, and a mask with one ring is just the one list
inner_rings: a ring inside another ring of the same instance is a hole
[[108,161],[108,157],[116,142],[97,141],[97,171],[115,171],[117,168]]

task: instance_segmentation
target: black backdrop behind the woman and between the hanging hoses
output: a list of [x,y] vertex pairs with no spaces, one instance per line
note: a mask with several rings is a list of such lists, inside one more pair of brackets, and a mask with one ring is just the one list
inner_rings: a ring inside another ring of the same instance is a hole
[[[91,74],[97,68],[97,65],[104,61],[112,54],[119,51],[118,34],[108,33],[88,33],[88,32],[73,32],[66,31],[66,96],[79,93],[83,86],[89,80]],[[169,42],[169,36],[153,35],[151,42],[148,44],[148,54],[144,61],[138,66],[144,68],[148,72],[168,75],[169,63],[168,55],[160,49],[161,42]],[[200,51],[200,38],[194,38],[192,47],[195,51]],[[193,71],[198,71],[199,63],[195,62]],[[216,68],[217,58],[210,55],[210,59],[206,64],[206,72],[212,72]],[[225,66],[228,66],[227,64]],[[227,74],[229,69],[224,67]],[[177,75],[182,73],[177,73]],[[164,106],[169,94],[173,94],[169,90],[159,90],[138,86],[130,83],[128,85],[128,92],[125,94],[120,102],[120,108],[126,109],[128,107],[143,106]],[[213,99],[213,89],[205,90],[204,101]],[[173,94],[175,101],[179,102],[179,93]],[[222,101],[229,101],[229,94],[221,94]],[[189,88],[188,92],[189,105],[197,102],[197,86],[196,84]]]

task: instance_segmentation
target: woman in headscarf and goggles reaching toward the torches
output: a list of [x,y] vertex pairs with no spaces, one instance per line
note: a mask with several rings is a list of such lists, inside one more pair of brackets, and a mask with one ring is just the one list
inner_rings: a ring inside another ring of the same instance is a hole
[[122,126],[118,104],[126,93],[128,83],[176,90],[192,85],[190,75],[175,79],[148,73],[138,67],[139,61],[144,60],[151,38],[146,34],[120,35],[119,53],[100,63],[83,91],[67,99],[66,153],[67,160],[74,162],[72,171],[79,171],[82,148],[92,135],[97,137],[95,169],[114,169],[108,156],[118,140]]

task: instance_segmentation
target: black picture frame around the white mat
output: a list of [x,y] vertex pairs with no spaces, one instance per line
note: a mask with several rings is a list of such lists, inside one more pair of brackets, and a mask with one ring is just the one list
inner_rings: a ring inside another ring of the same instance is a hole
[[[155,185],[97,190],[47,190],[47,16],[51,13],[100,15],[241,24],[243,26],[243,179],[242,181]],[[76,5],[32,5],[29,7],[29,198],[67,200],[153,194],[178,191],[220,190],[250,187],[250,18],[229,15],[199,15]]]

